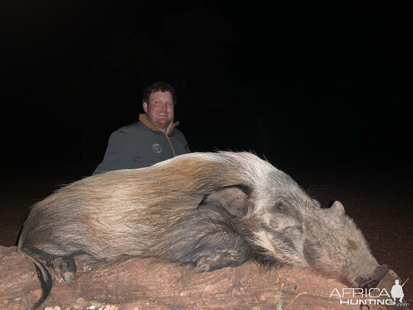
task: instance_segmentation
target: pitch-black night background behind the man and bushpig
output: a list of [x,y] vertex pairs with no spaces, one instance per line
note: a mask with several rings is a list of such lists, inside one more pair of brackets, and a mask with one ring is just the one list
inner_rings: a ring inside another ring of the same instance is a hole
[[[412,13],[409,1],[2,2],[3,211],[90,175],[163,80],[192,151],[253,150],[306,188],[334,184],[317,191],[325,207],[363,197],[347,211],[364,233],[397,226],[381,242],[411,244]],[[382,258],[402,279],[406,244],[399,263]]]

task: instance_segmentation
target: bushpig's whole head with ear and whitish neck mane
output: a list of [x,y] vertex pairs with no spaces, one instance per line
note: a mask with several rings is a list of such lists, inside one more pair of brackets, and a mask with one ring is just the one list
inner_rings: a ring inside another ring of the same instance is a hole
[[254,259],[310,267],[354,288],[375,287],[387,274],[389,269],[377,263],[341,203],[321,209],[269,162],[250,153],[229,156],[235,159],[242,185],[229,186],[211,198],[251,227]]

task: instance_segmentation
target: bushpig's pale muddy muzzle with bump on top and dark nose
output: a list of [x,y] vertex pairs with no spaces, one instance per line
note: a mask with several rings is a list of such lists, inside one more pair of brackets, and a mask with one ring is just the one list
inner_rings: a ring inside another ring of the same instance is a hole
[[336,201],[304,221],[303,253],[318,271],[354,288],[374,288],[388,268],[377,263],[361,231]]

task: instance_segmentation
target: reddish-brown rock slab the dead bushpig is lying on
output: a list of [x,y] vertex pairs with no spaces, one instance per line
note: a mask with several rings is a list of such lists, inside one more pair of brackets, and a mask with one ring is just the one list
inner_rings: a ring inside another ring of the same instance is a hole
[[[6,279],[0,284],[0,309],[30,308],[40,296],[33,262],[16,253],[16,247],[0,247],[0,261],[0,278]],[[193,267],[151,265],[149,260],[136,259],[91,272],[82,272],[81,263],[77,267],[79,271],[71,287],[53,279],[52,293],[43,303],[43,309],[51,305],[66,309],[67,305],[81,306],[99,300],[104,303],[102,310],[142,307],[145,310],[265,310],[275,309],[281,305],[280,300],[284,309],[296,296],[287,309],[360,309],[359,305],[340,305],[337,296],[329,297],[335,288],[342,291],[344,284],[294,268],[263,272],[259,266],[247,262],[239,267],[195,274]],[[390,291],[396,277],[390,271],[380,286]],[[391,307],[375,305],[370,309]]]

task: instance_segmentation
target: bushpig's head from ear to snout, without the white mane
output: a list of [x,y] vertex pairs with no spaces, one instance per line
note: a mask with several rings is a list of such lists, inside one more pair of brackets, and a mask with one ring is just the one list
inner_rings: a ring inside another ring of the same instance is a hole
[[329,209],[306,196],[285,197],[261,208],[251,201],[253,192],[228,186],[204,198],[219,203],[252,229],[252,256],[268,266],[310,267],[349,287],[374,288],[387,274],[380,266],[353,220],[336,201]]

